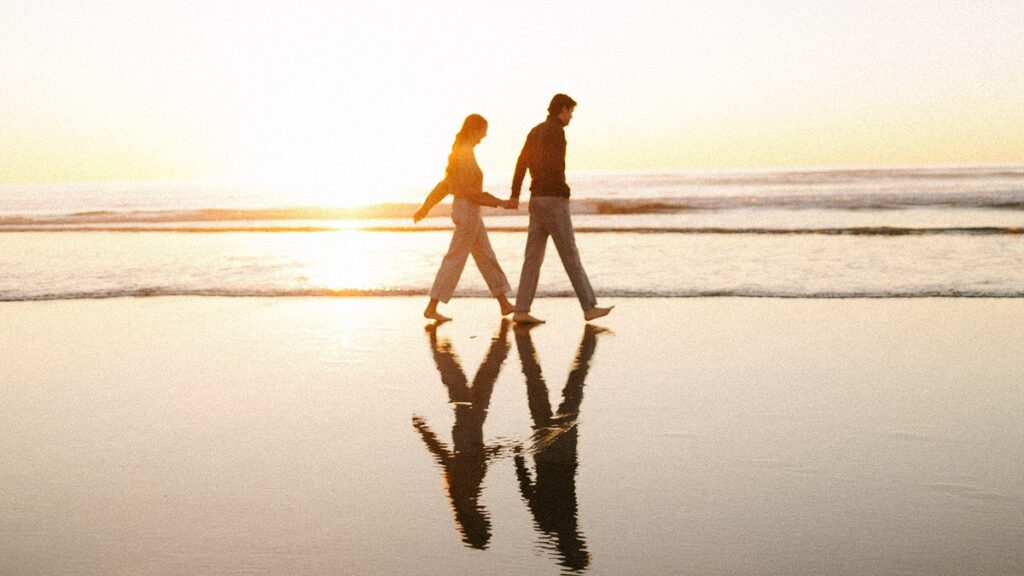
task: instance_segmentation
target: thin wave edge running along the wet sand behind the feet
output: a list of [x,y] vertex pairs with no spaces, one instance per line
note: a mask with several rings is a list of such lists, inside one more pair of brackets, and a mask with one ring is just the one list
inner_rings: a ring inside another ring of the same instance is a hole
[[[0,293],[0,302],[97,300],[110,298],[153,298],[198,296],[224,298],[387,298],[426,297],[427,288],[388,288],[377,290],[328,288],[294,289],[232,289],[232,288],[125,288],[94,291],[56,291],[45,293]],[[490,298],[486,291],[460,291],[460,297]],[[539,291],[538,297],[571,298],[571,291]],[[718,290],[602,290],[602,298],[805,298],[805,299],[884,299],[884,298],[1024,298],[1024,290],[851,290],[851,291],[788,291],[758,288]]]

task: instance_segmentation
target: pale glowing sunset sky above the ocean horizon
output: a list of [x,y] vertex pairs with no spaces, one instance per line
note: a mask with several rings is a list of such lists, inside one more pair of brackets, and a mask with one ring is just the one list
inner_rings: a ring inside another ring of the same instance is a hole
[[[0,0],[0,183],[1024,162],[1024,3]],[[429,188],[429,186],[428,186]]]

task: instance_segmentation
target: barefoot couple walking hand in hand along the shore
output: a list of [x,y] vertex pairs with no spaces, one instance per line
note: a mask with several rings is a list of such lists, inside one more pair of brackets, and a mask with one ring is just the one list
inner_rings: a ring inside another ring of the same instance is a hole
[[[537,293],[549,236],[555,241],[562,265],[580,299],[584,319],[589,322],[611,312],[611,307],[597,305],[594,290],[580,261],[572,219],[569,216],[569,187],[565,183],[565,126],[572,120],[575,105],[565,94],[555,94],[551,98],[548,119],[538,124],[526,136],[526,143],[516,162],[512,194],[508,200],[501,200],[483,192],[483,172],[476,164],[473,149],[487,135],[487,121],[477,114],[466,118],[452,145],[444,179],[434,187],[423,206],[413,216],[415,221],[420,221],[446,195],[455,197],[452,203],[455,234],[434,278],[430,302],[423,311],[423,316],[438,322],[451,320],[437,312],[437,304],[447,303],[452,298],[466,259],[472,254],[487,288],[501,305],[502,316],[512,314],[512,320],[519,324],[544,322],[530,315],[529,308]],[[530,177],[529,229],[525,259],[519,276],[519,290],[513,306],[506,296],[512,288],[490,247],[487,229],[480,217],[480,206],[501,206],[510,210],[518,208],[519,191],[527,169]]]

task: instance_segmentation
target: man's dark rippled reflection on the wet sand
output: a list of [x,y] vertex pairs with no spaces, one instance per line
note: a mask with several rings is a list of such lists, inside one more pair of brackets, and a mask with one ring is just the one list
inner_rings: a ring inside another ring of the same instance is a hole
[[530,478],[521,453],[515,455],[519,491],[534,513],[537,529],[558,549],[559,564],[571,570],[584,570],[590,564],[587,543],[577,518],[575,471],[577,418],[583,402],[583,385],[603,329],[587,325],[569,372],[558,412],[552,413],[548,385],[537,361],[537,351],[529,335],[530,326],[516,326],[515,342],[526,376],[526,398],[534,418],[534,464]]

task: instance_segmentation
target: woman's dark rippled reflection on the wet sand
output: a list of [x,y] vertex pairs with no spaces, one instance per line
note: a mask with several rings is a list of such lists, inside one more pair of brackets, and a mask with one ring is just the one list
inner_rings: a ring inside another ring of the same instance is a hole
[[449,401],[455,405],[452,426],[452,449],[430,429],[426,421],[413,417],[413,426],[420,431],[427,450],[444,470],[444,485],[455,510],[457,529],[462,541],[474,548],[486,548],[490,541],[490,518],[479,503],[480,485],[487,472],[487,461],[498,452],[483,444],[483,420],[487,417],[490,393],[509,353],[507,320],[490,343],[483,363],[476,372],[473,385],[467,385],[466,375],[449,340],[438,342],[437,325],[427,327],[434,363],[441,382],[449,390]]

